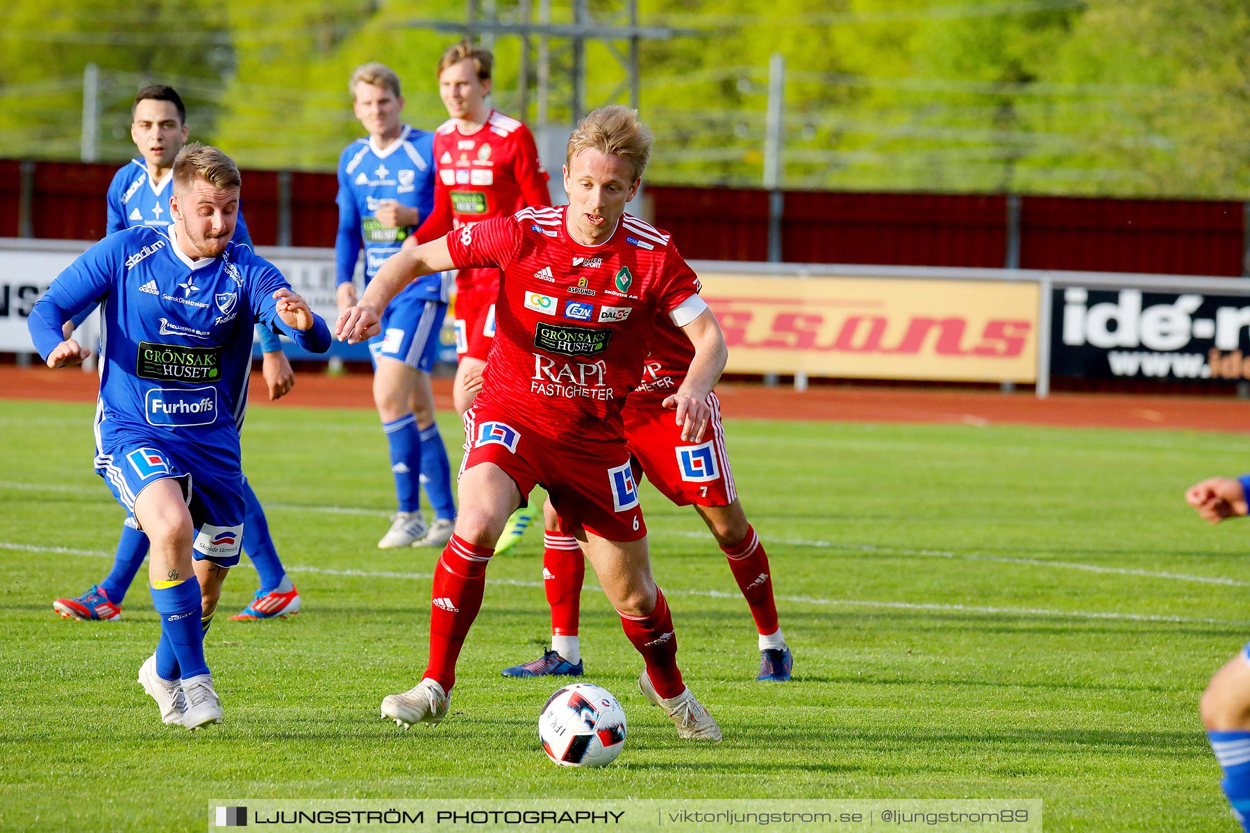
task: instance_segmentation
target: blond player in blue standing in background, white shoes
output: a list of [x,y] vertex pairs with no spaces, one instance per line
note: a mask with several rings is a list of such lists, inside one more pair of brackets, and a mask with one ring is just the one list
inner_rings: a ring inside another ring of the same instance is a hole
[[[356,303],[352,276],[361,242],[365,283],[398,252],[434,207],[434,134],[400,121],[399,76],[365,64],[348,82],[352,109],[369,131],[339,157],[339,234],[334,244],[339,310]],[[451,538],[456,507],[448,450],[434,421],[430,371],[448,308],[449,277],[412,281],[386,308],[381,332],[370,338],[374,403],[390,446],[399,511],[378,546],[441,547]],[[420,487],[434,508],[421,516]]]

